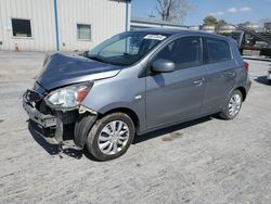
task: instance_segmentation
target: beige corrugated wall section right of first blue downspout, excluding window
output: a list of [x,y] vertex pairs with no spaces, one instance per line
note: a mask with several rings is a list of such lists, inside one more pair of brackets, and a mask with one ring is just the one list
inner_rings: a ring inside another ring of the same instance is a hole
[[[109,0],[59,0],[60,48],[88,50],[126,29],[126,2]],[[77,37],[77,24],[91,25],[91,39]]]

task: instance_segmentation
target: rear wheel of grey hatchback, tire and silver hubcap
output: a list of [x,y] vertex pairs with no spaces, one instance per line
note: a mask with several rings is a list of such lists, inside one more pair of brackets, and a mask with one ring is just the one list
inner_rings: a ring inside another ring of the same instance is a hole
[[234,90],[227,100],[219,116],[223,119],[233,119],[237,116],[243,102],[243,94],[240,90]]

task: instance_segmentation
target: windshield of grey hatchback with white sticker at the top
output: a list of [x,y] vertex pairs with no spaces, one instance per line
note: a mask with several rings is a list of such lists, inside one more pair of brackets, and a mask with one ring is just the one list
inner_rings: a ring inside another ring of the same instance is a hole
[[142,31],[119,34],[90,50],[87,58],[114,65],[131,65],[166,37]]

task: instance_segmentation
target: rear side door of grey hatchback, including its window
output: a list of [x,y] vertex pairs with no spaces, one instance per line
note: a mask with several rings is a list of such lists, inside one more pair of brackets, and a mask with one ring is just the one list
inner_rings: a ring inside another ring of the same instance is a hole
[[236,63],[228,41],[206,38],[207,76],[203,113],[219,111],[236,82]]

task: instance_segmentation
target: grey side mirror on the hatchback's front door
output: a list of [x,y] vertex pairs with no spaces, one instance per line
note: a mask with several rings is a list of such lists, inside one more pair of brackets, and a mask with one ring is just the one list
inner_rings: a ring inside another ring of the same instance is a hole
[[175,63],[170,60],[158,59],[152,63],[151,71],[154,73],[171,73],[175,71]]

